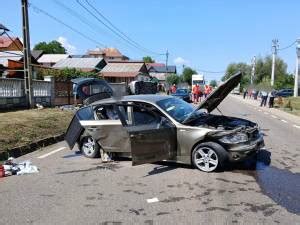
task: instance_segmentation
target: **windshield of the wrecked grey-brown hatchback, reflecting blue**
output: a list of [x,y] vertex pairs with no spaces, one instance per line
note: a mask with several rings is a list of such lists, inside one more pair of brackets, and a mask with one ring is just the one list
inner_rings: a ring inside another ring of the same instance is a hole
[[191,104],[188,104],[179,98],[167,98],[160,100],[157,102],[157,105],[180,123],[190,116],[195,110]]

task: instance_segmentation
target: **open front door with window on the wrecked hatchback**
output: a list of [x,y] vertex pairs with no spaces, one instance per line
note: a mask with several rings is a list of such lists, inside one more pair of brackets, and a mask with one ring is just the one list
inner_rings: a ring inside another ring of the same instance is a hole
[[[176,127],[164,116],[142,105],[124,106],[125,127],[131,143],[132,165],[172,159],[176,156]],[[153,106],[152,106],[153,107]]]

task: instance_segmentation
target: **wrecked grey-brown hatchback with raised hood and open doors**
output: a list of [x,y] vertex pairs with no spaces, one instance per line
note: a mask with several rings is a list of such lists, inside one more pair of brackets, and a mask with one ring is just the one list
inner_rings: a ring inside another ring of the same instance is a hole
[[81,108],[66,132],[90,158],[105,152],[131,156],[132,165],[175,160],[211,172],[255,155],[264,146],[258,125],[211,112],[240,82],[232,76],[197,108],[172,96],[131,95]]

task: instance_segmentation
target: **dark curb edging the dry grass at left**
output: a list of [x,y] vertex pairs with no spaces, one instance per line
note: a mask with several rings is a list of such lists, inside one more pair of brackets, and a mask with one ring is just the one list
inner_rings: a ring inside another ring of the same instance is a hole
[[5,152],[1,152],[0,153],[0,161],[5,161],[9,157],[18,158],[22,155],[34,152],[39,148],[46,147],[46,146],[55,144],[57,142],[63,141],[64,137],[65,137],[65,134],[60,134],[60,135],[56,135],[53,137],[41,139],[41,140],[35,141],[33,143],[27,144],[27,145],[15,147],[15,148],[12,148]]

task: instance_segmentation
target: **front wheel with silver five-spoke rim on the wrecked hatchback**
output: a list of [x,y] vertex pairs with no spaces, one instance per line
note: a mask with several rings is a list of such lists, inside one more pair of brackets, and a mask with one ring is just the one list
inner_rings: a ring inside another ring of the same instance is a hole
[[228,159],[226,150],[215,142],[203,142],[192,151],[192,164],[203,172],[213,172],[224,166]]

